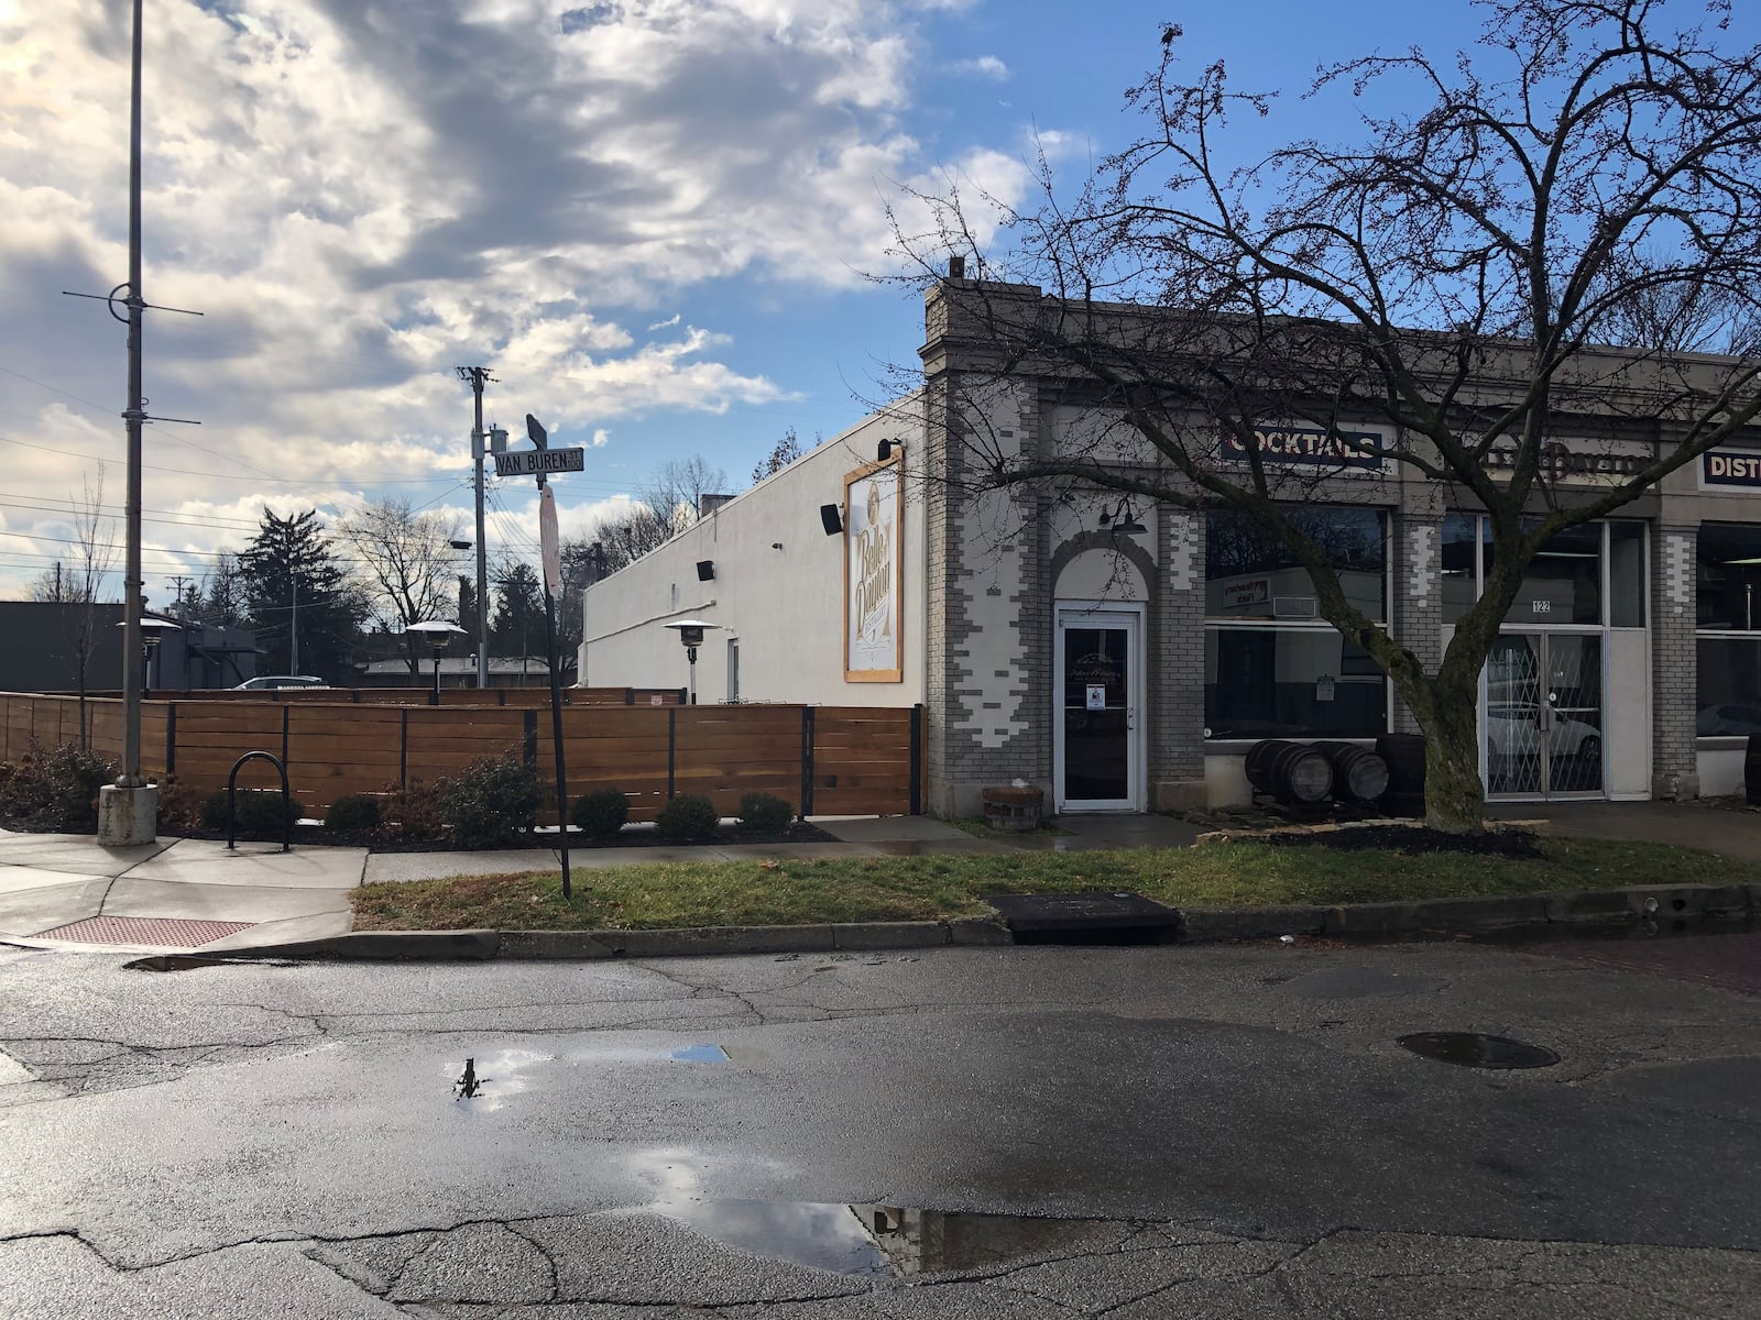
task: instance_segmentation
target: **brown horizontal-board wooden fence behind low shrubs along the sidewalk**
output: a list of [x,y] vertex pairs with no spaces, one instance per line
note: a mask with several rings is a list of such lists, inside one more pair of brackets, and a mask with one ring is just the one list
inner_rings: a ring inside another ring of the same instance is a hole
[[[247,752],[273,752],[287,764],[294,797],[313,813],[343,794],[433,783],[504,752],[546,778],[553,773],[551,720],[537,706],[345,704],[315,695],[322,693],[276,702],[146,700],[141,769],[211,792],[225,787]],[[79,741],[74,697],[0,693],[0,759]],[[86,699],[86,725],[92,748],[118,760],[122,702]],[[748,792],[775,794],[801,815],[923,811],[921,706],[583,702],[562,711],[562,725],[571,797],[618,788],[630,797],[632,820],[652,820],[674,794],[703,794],[722,815],[733,815]]]

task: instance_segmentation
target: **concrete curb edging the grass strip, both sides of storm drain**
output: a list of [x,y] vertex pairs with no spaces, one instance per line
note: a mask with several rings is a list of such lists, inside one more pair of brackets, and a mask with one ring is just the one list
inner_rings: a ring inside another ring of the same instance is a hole
[[[1333,906],[1180,908],[1176,943],[1277,936],[1386,940],[1500,935],[1573,938],[1631,929],[1680,933],[1708,924],[1752,924],[1761,885],[1636,885],[1557,894],[1347,903]],[[352,931],[328,940],[229,949],[213,957],[335,957],[349,961],[592,961],[731,954],[829,954],[886,949],[1013,945],[1000,920],[847,922],[819,926],[696,926],[664,931]],[[195,954],[203,957],[203,954]]]

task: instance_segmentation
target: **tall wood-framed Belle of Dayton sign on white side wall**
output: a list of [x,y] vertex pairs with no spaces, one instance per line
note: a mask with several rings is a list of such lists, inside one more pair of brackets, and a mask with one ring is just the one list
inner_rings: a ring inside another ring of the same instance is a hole
[[900,683],[903,593],[900,524],[905,452],[858,468],[844,479],[844,678],[847,683]]

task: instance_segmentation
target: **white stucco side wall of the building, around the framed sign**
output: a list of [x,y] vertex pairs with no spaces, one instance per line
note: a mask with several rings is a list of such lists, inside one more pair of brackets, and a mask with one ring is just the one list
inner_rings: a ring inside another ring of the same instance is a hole
[[[687,660],[667,623],[720,625],[697,651],[699,704],[727,700],[727,642],[740,642],[740,699],[838,706],[923,700],[925,519],[912,465],[921,458],[917,403],[858,422],[722,505],[697,526],[586,590],[583,686],[685,686]],[[844,537],[828,537],[819,507],[844,502],[844,475],[875,459],[882,440],[905,444],[902,512],[903,679],[844,679]],[[697,581],[697,561],[715,577]]]

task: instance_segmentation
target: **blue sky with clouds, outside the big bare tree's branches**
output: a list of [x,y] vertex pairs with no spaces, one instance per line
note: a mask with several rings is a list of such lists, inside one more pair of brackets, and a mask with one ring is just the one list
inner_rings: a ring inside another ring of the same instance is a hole
[[[1685,9],[1685,7],[1684,7]],[[1278,90],[1229,150],[1351,141],[1317,63],[1472,42],[1467,0],[146,0],[146,598],[201,581],[262,509],[407,498],[470,537],[472,396],[588,535],[666,461],[727,489],[794,429],[852,426],[916,363],[905,190],[1028,199],[1141,120],[1124,88],[1185,28],[1196,72]],[[1689,18],[1691,14],[1684,14]],[[125,493],[127,0],[0,0],[0,598]],[[1379,93],[1381,95],[1381,93]],[[491,558],[537,558],[530,479],[488,491]],[[120,553],[118,553],[120,563]],[[461,570],[470,565],[461,561]],[[120,572],[109,598],[120,597]]]

